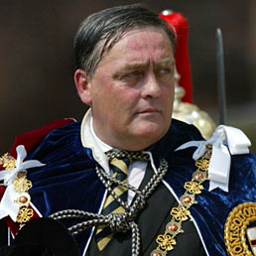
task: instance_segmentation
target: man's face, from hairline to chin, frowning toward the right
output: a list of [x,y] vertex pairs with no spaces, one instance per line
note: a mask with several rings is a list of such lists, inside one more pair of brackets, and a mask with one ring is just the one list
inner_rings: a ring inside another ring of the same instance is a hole
[[154,27],[126,33],[87,80],[85,103],[105,143],[142,150],[171,124],[175,59],[167,34]]

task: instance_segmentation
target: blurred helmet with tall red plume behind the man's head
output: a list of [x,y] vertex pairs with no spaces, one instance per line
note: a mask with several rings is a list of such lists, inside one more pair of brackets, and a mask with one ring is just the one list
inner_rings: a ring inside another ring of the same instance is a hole
[[206,112],[192,104],[192,71],[188,49],[189,23],[181,13],[172,10],[164,10],[159,15],[175,29],[177,34],[173,117],[196,126],[202,136],[208,139],[216,125]]

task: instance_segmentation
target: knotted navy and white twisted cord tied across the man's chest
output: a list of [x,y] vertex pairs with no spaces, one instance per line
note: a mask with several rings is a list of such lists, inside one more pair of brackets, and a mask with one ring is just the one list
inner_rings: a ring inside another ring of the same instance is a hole
[[[132,152],[134,153],[134,152]],[[118,152],[110,153],[110,158],[116,157]],[[130,154],[129,152],[121,152],[119,154],[121,157],[130,157],[133,160],[136,157],[136,160],[143,160],[147,159],[149,161],[149,156],[145,153],[143,154]],[[127,154],[127,155],[125,155]],[[147,158],[146,158],[147,157]],[[98,214],[98,213],[91,213],[83,210],[77,209],[66,209],[58,211],[54,214],[51,214],[49,217],[61,220],[66,218],[81,218],[86,219],[85,221],[79,222],[75,225],[68,227],[67,229],[71,232],[72,235],[76,235],[83,230],[97,225],[108,225],[113,231],[117,232],[126,232],[128,230],[132,231],[132,256],[138,256],[140,253],[140,230],[138,224],[134,222],[134,219],[137,213],[144,208],[146,204],[147,197],[156,189],[159,183],[163,180],[164,176],[168,171],[168,162],[165,159],[162,159],[160,162],[160,167],[157,170],[157,173],[154,174],[152,179],[149,181],[147,186],[144,188],[142,192],[137,190],[131,185],[126,183],[122,183],[113,177],[107,175],[105,171],[100,168],[96,167],[96,174],[98,178],[105,186],[107,192],[109,192],[115,200],[117,200],[124,208],[124,213],[110,213],[107,215]],[[126,201],[121,200],[114,192],[111,190],[111,184],[115,183],[117,185],[123,186],[127,188],[127,190],[135,192],[135,199],[131,205],[128,205]]]

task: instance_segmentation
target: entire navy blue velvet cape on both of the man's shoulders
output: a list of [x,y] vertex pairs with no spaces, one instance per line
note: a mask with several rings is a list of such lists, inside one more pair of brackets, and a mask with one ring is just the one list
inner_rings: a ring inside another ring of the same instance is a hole
[[[165,158],[169,162],[166,182],[181,196],[185,182],[191,181],[195,170],[192,153],[194,148],[174,152],[180,145],[202,140],[192,126],[173,120],[167,135],[150,147],[155,165]],[[89,149],[80,142],[80,123],[72,123],[58,128],[28,154],[27,160],[36,159],[47,164],[43,168],[29,170],[28,179],[32,181],[30,190],[32,201],[43,216],[56,211],[75,208],[97,212],[105,191],[95,173],[96,162]],[[232,157],[229,192],[217,189],[204,191],[196,196],[197,204],[191,212],[195,219],[209,255],[226,255],[223,242],[223,226],[229,211],[244,201],[256,201],[256,160],[252,155]],[[168,199],[168,198],[167,198]],[[65,221],[69,226],[74,222]],[[81,250],[86,245],[90,230],[76,237]]]

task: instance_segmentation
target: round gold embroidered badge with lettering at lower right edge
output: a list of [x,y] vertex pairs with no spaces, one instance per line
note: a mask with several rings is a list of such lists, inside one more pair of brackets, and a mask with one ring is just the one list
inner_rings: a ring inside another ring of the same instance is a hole
[[[224,229],[226,250],[230,256],[256,255],[254,232],[250,224],[256,222],[256,202],[244,202],[229,213]],[[247,235],[246,235],[247,233]],[[250,244],[250,248],[248,246]]]

